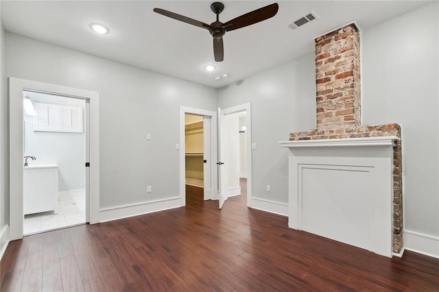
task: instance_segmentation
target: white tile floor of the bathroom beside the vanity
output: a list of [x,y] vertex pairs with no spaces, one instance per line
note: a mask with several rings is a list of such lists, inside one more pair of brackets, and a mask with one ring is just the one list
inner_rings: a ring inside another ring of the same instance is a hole
[[58,214],[54,211],[25,215],[23,234],[34,234],[85,223],[85,196],[61,199]]

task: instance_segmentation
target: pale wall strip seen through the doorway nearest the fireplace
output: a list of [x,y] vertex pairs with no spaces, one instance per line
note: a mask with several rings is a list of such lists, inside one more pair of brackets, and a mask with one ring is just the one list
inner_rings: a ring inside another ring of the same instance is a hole
[[224,138],[226,190],[233,191],[239,188],[239,113],[224,116]]

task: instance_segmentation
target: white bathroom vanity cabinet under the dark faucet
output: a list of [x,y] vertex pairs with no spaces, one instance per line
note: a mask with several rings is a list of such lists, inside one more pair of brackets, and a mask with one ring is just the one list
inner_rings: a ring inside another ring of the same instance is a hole
[[24,215],[58,214],[58,165],[29,165],[23,171]]

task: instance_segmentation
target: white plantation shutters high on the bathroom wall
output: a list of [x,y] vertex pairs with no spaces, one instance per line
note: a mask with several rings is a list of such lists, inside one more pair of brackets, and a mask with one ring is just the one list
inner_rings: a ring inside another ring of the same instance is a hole
[[34,102],[34,131],[82,133],[82,108]]

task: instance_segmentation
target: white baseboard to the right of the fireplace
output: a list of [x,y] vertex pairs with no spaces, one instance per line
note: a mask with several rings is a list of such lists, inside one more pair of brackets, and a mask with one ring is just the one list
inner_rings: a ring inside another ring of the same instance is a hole
[[439,258],[439,237],[422,234],[410,230],[403,231],[405,250]]

